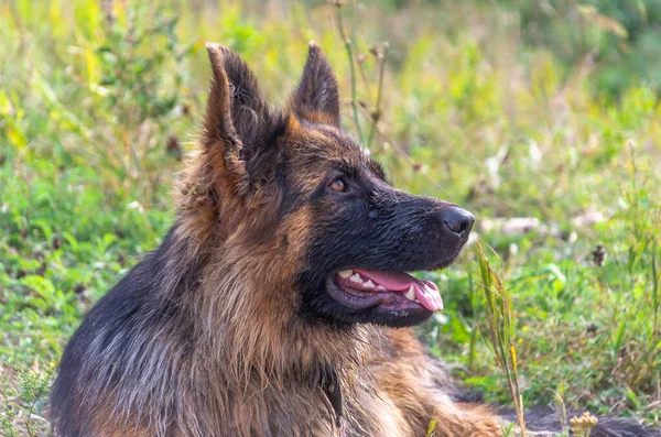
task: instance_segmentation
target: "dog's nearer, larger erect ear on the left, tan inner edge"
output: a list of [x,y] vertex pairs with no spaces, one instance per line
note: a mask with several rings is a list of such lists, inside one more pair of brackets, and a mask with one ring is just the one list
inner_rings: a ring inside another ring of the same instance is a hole
[[214,79],[207,101],[202,138],[203,146],[214,160],[214,167],[249,181],[246,159],[270,138],[273,128],[269,107],[257,78],[231,50],[208,43],[207,52]]

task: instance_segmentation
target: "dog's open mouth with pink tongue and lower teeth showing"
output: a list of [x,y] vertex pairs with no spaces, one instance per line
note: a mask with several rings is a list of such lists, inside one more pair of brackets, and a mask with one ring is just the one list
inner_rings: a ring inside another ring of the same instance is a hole
[[391,312],[440,312],[443,299],[431,281],[403,272],[350,269],[328,277],[330,296],[350,309],[381,307]]

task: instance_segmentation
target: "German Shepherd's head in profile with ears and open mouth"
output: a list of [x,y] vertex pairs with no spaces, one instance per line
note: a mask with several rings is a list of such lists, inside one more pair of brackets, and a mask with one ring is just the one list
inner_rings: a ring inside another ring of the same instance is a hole
[[203,153],[182,212],[202,218],[193,232],[241,258],[263,281],[263,302],[306,320],[399,327],[442,309],[437,287],[407,272],[451,264],[473,216],[388,184],[342,129],[337,80],[316,44],[281,111],[235,53],[207,48]]

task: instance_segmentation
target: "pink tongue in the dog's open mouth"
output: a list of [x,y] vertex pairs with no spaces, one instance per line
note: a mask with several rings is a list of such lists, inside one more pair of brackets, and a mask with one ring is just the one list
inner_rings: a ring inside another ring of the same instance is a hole
[[380,284],[392,292],[408,292],[413,285],[415,298],[430,312],[443,310],[443,299],[438,287],[431,281],[421,281],[408,273],[381,272],[378,270],[354,270],[361,276]]

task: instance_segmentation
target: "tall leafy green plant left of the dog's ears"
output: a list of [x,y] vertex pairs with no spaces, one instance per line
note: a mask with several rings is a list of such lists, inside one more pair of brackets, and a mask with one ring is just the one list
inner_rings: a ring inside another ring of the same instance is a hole
[[[75,152],[85,155],[112,189],[130,188],[145,201],[155,201],[155,168],[163,156],[181,155],[170,130],[188,111],[184,62],[196,44],[180,43],[177,17],[164,2],[105,4],[108,10],[99,23],[104,32],[80,36],[89,48],[79,68],[87,72],[84,113],[111,117],[85,120],[98,125],[82,129],[80,141],[95,146]],[[153,51],[154,44],[161,50]]]

